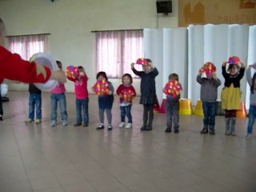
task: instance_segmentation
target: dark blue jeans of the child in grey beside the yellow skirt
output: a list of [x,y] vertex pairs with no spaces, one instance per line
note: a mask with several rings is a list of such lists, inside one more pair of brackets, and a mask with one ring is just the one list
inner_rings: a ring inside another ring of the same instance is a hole
[[202,102],[203,128],[214,130],[216,102]]

